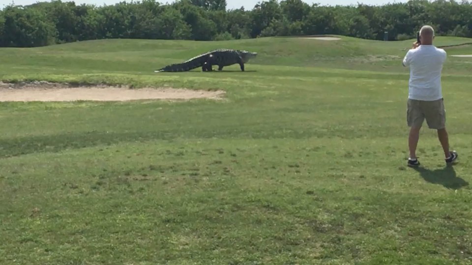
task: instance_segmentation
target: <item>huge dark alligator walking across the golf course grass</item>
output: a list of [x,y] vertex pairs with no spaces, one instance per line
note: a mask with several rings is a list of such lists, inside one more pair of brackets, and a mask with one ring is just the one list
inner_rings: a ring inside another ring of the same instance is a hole
[[167,65],[154,72],[186,72],[198,67],[202,67],[204,72],[209,72],[213,71],[213,65],[218,65],[218,70],[221,71],[223,67],[233,64],[239,64],[241,71],[244,71],[244,63],[256,55],[257,53],[243,50],[217,49],[195,56],[183,63]]

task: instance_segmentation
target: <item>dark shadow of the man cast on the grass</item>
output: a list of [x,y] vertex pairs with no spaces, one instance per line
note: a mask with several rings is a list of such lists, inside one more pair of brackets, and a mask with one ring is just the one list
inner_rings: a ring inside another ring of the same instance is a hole
[[430,170],[423,167],[415,167],[414,170],[419,172],[421,177],[433,184],[441,184],[446,188],[459,189],[469,185],[468,182],[457,177],[454,167],[447,165],[441,169]]

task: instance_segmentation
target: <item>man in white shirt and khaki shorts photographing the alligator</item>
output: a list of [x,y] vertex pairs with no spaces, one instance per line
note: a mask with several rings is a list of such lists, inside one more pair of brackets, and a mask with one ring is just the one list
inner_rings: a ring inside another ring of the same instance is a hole
[[449,151],[445,126],[446,113],[442,98],[441,72],[442,64],[446,60],[446,52],[433,46],[434,29],[431,26],[421,27],[419,35],[420,42],[414,42],[413,48],[403,58],[403,66],[410,67],[407,103],[407,124],[410,127],[408,166],[420,164],[416,158],[416,146],[424,119],[430,129],[438,131],[445,162],[451,164],[457,159],[458,154],[455,151]]

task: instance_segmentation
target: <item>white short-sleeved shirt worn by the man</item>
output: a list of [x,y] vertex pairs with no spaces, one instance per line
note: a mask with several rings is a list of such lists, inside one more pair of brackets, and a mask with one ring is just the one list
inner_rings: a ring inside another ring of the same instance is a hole
[[408,98],[434,101],[442,99],[441,71],[446,52],[433,45],[420,45],[403,58],[403,66],[410,67]]

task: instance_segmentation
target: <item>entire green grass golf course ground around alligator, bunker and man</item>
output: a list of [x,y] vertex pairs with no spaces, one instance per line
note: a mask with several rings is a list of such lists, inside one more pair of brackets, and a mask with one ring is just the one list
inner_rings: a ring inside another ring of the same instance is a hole
[[[0,103],[0,264],[470,264],[472,59],[449,56],[442,79],[459,163],[444,166],[425,126],[415,170],[412,41],[341,38],[0,49],[4,82],[226,91]],[[246,72],[153,73],[213,48],[258,57]]]

